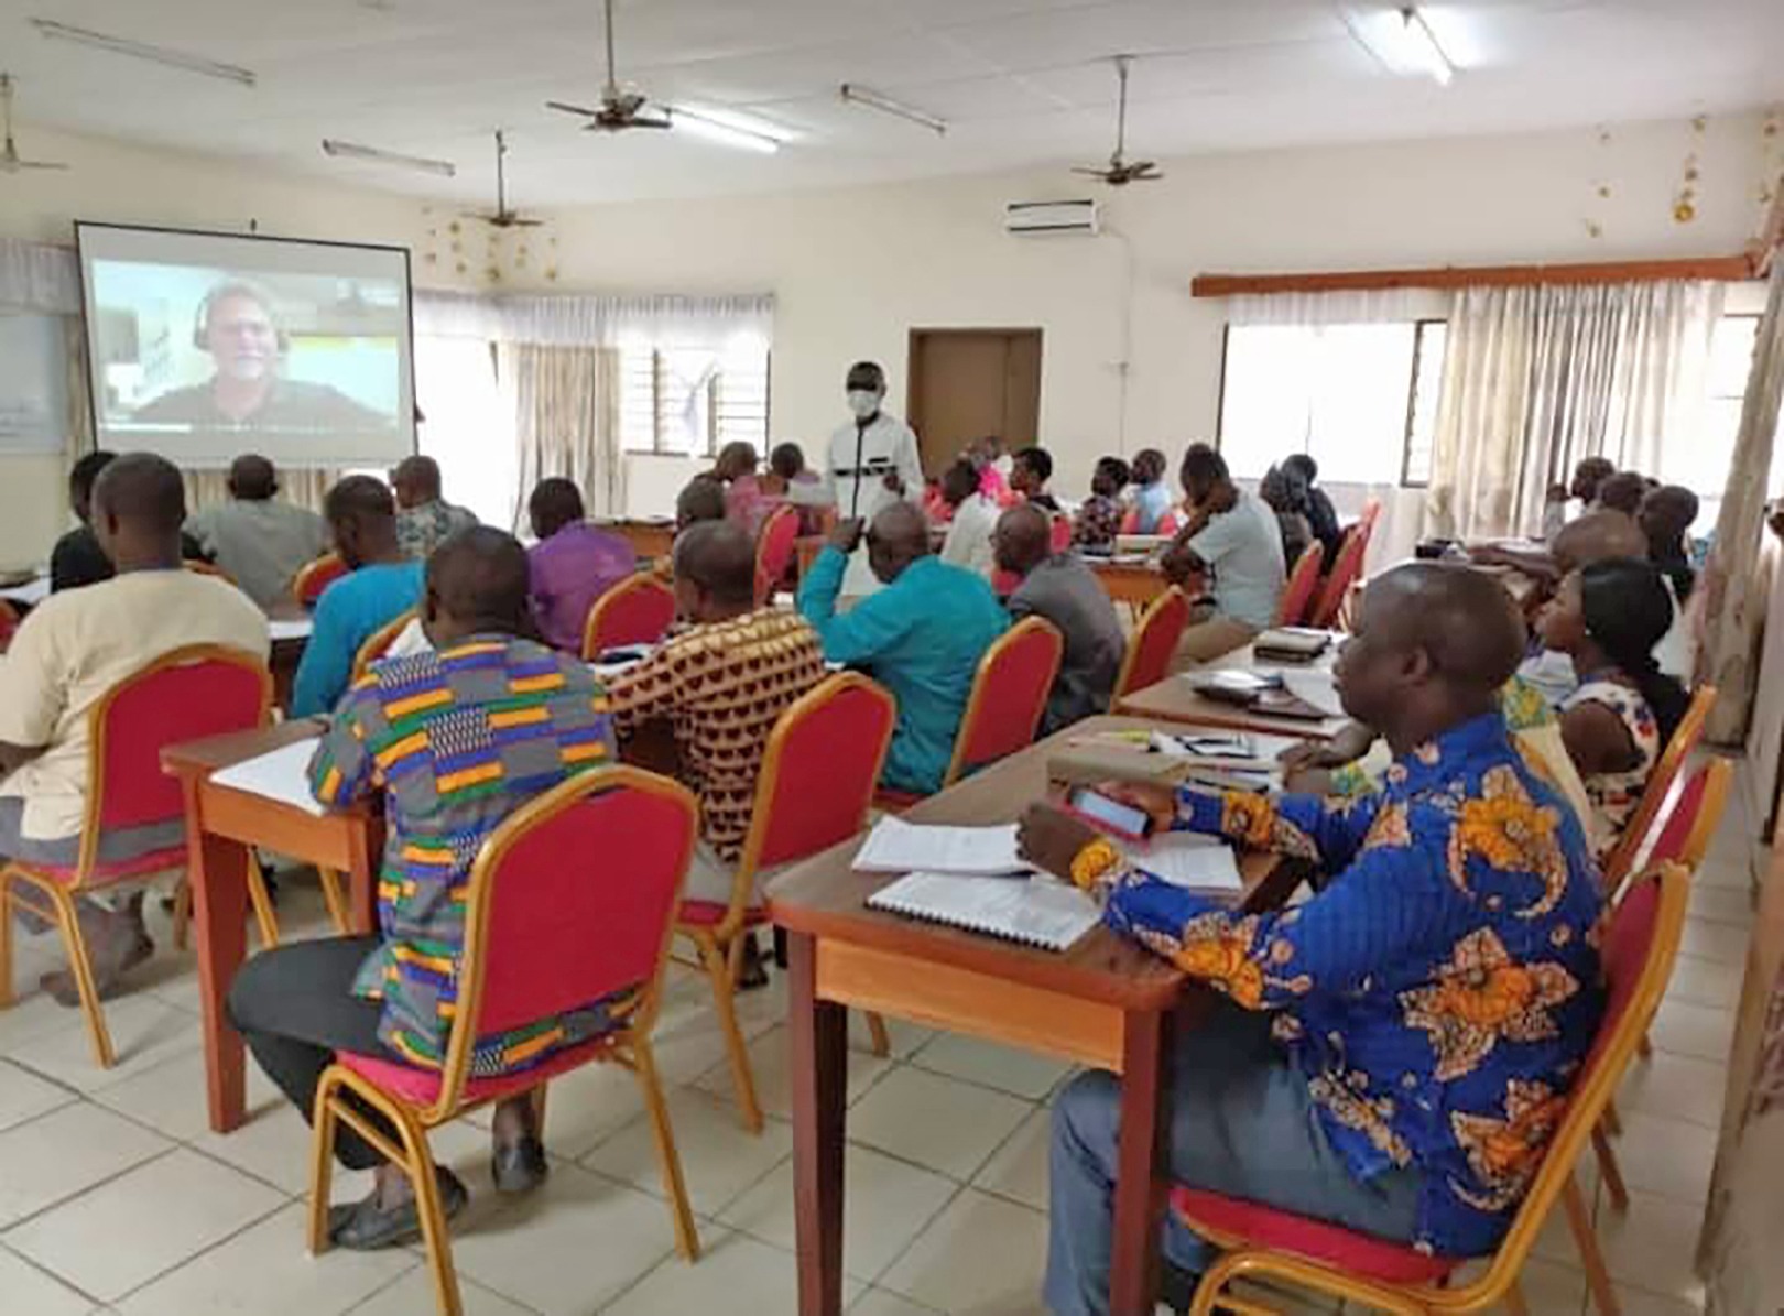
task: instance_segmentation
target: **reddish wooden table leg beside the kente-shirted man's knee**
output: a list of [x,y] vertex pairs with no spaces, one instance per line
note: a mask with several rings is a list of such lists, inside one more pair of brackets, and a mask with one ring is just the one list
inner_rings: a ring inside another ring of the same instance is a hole
[[[191,790],[191,788],[189,788]],[[248,847],[203,833],[198,802],[186,802],[186,879],[193,888],[193,940],[198,950],[198,999],[203,1008],[205,1091],[211,1129],[230,1132],[246,1116],[246,1056],[225,1002],[248,942]]]

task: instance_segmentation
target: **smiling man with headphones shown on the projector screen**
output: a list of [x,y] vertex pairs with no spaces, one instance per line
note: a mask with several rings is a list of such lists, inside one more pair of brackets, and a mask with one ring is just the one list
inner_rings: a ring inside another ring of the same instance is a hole
[[396,424],[339,389],[280,374],[289,339],[264,289],[230,278],[198,305],[193,344],[211,353],[209,382],[169,389],[132,421],[200,430],[368,430]]

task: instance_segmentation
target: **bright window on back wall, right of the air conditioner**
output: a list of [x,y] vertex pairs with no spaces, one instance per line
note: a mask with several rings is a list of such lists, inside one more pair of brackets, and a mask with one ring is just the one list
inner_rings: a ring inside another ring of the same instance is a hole
[[1425,483],[1447,332],[1440,319],[1229,326],[1220,451],[1233,474],[1308,453],[1327,483]]

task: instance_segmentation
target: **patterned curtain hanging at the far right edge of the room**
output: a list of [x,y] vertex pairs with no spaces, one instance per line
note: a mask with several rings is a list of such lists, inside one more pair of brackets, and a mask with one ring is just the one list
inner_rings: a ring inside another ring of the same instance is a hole
[[[1766,515],[1766,473],[1784,399],[1784,260],[1772,264],[1772,289],[1754,342],[1741,428],[1729,464],[1729,487],[1716,517],[1714,547],[1704,569],[1704,646],[1697,678],[1720,690],[1704,735],[1738,744],[1747,735],[1759,674],[1764,581],[1759,571]],[[1784,621],[1780,621],[1784,624]]]

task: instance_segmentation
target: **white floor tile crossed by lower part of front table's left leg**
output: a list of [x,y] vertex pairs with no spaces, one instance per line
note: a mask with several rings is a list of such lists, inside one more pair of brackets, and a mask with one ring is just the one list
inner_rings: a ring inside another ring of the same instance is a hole
[[[865,1147],[844,1157],[842,1268],[874,1280],[947,1204],[956,1186],[942,1175]],[[719,1213],[719,1221],[776,1246],[794,1248],[792,1161]]]

